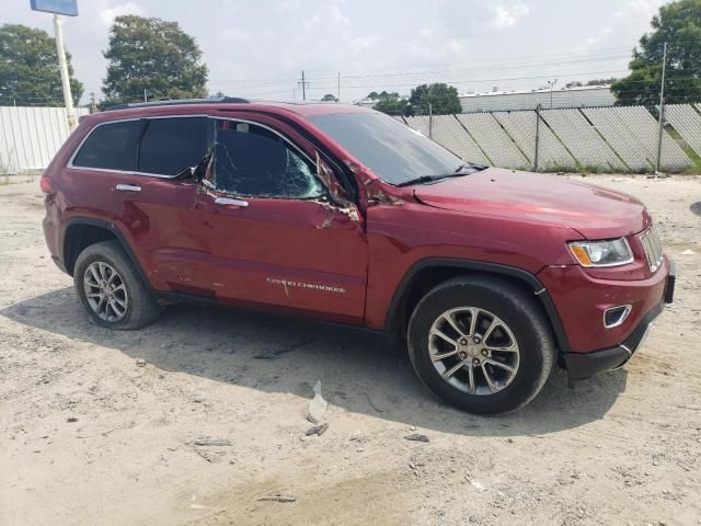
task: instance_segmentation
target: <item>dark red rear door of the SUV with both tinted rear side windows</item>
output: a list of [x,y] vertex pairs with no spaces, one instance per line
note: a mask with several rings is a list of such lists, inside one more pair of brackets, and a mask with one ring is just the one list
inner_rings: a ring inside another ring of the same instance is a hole
[[206,116],[105,123],[71,162],[89,172],[81,181],[93,186],[95,211],[111,211],[158,289],[212,296],[198,186],[192,178],[175,179],[206,155],[210,126]]

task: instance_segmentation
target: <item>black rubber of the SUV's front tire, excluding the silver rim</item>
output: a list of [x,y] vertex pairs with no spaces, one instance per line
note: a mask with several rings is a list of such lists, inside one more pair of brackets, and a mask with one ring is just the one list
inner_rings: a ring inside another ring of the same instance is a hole
[[[434,367],[428,344],[430,328],[444,312],[460,307],[485,309],[510,329],[520,358],[516,375],[510,384],[504,382],[502,390],[472,395],[449,384]],[[414,370],[426,387],[446,402],[476,414],[522,408],[540,392],[556,362],[550,324],[535,298],[518,286],[491,276],[456,277],[428,291],[410,319],[407,343]]]

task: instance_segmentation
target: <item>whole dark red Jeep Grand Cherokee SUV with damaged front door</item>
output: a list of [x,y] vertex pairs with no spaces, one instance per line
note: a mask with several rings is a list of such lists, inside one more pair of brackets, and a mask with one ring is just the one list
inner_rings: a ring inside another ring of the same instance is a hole
[[358,106],[117,106],[82,119],[42,190],[94,323],[141,328],[175,296],[394,333],[475,413],[525,405],[556,364],[622,366],[674,291],[635,198],[466,163]]

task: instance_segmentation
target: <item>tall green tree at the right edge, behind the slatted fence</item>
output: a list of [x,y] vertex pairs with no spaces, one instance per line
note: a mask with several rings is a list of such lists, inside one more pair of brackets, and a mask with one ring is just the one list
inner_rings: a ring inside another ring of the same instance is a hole
[[617,104],[659,103],[663,48],[667,43],[665,93],[668,103],[701,100],[701,0],[680,0],[659,8],[652,33],[633,49],[631,73],[611,87]]

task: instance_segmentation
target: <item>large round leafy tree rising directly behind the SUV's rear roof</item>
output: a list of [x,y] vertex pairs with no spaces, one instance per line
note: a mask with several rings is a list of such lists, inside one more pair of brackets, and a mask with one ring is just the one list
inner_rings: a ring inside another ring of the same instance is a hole
[[117,16],[110,30],[103,105],[148,99],[207,96],[207,66],[197,42],[177,22]]

